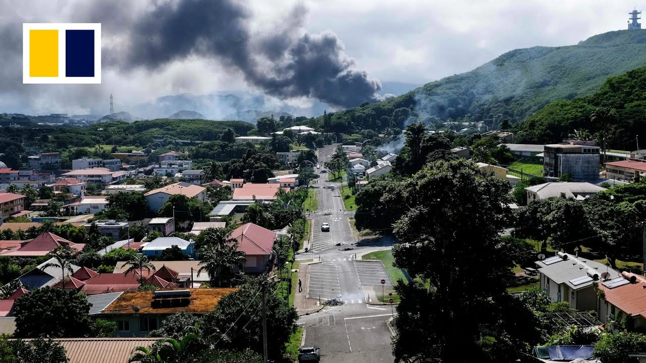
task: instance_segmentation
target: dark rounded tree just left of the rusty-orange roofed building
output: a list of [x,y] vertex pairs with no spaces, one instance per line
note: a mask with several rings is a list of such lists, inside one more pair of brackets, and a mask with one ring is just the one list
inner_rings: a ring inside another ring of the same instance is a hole
[[91,337],[87,297],[73,289],[43,287],[21,296],[14,304],[17,338]]

